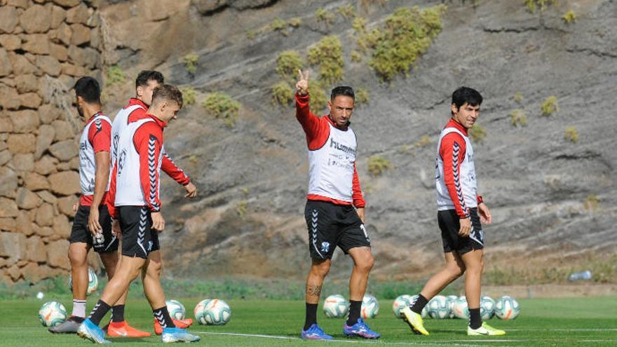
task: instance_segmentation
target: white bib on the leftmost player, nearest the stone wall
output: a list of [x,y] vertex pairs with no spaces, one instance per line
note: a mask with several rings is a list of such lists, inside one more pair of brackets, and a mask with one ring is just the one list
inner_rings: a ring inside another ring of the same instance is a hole
[[[111,124],[111,121],[104,114],[97,114],[90,123],[83,127],[81,132],[81,139],[79,140],[79,184],[81,186],[81,193],[86,195],[94,194],[94,183],[96,175],[96,159],[94,148],[90,141],[88,141],[88,133],[90,127],[95,126],[98,129],[101,128],[101,122],[107,122]],[[109,190],[109,184],[107,189]]]

